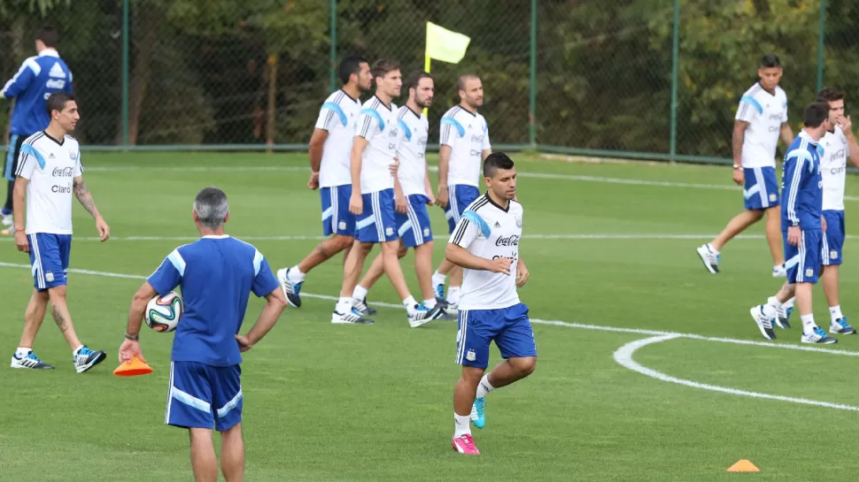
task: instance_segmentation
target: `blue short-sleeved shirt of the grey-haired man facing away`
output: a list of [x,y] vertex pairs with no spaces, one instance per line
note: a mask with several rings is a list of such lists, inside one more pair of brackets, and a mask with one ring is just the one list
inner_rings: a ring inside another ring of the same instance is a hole
[[182,288],[185,312],[170,360],[212,366],[242,363],[234,336],[248,298],[280,288],[259,250],[227,235],[204,236],[174,249],[148,280],[162,296]]

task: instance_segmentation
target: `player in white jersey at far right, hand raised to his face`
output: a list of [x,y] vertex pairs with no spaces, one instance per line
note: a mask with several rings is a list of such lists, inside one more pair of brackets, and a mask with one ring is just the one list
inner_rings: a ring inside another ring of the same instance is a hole
[[[823,155],[820,157],[820,175],[824,180],[823,215],[826,230],[821,249],[821,275],[824,295],[829,303],[829,333],[855,334],[841,313],[839,302],[839,266],[844,258],[844,184],[847,176],[847,159],[859,166],[859,144],[853,134],[850,116],[844,115],[844,92],[836,88],[824,88],[817,94],[817,102],[829,104],[830,130],[820,140]],[[778,324],[790,327],[788,318],[793,311],[793,298],[785,302],[778,312]]]

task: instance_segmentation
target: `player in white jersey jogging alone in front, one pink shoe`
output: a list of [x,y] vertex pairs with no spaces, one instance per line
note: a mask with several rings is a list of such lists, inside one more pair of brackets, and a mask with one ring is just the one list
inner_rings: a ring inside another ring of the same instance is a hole
[[[445,249],[447,259],[465,273],[456,333],[456,363],[462,365],[462,373],[453,390],[451,443],[454,450],[469,455],[480,454],[470,422],[484,427],[484,397],[537,367],[528,307],[516,292],[529,273],[519,257],[522,204],[515,201],[513,160],[502,152],[486,157],[484,182],[489,189],[463,211]],[[492,340],[504,361],[484,375]]]

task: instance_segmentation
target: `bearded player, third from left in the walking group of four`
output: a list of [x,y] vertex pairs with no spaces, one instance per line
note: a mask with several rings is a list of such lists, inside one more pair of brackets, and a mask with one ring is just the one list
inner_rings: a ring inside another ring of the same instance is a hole
[[[415,72],[406,80],[408,101],[399,108],[397,117],[400,129],[399,168],[397,177],[402,187],[402,196],[395,196],[397,233],[399,234],[400,258],[406,256],[409,248],[414,248],[414,272],[421,285],[423,305],[434,308],[437,304],[432,288],[432,227],[428,204],[435,203],[430,185],[429,166],[426,161],[427,138],[430,135],[430,122],[423,115],[423,109],[430,107],[433,96],[433,80],[429,73]],[[352,302],[362,314],[369,314],[362,300],[370,287],[384,274],[382,255],[375,256],[367,274],[361,279]]]

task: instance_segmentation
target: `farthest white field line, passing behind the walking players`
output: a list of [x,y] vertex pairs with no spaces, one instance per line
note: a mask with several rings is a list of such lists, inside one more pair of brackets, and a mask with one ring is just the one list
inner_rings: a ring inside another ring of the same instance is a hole
[[[88,167],[88,172],[141,172],[141,171],[159,171],[159,172],[307,172],[307,168],[298,165],[220,165],[213,167],[200,167],[192,165],[172,165],[172,166],[134,166],[134,165],[116,165],[116,166],[93,166]],[[437,172],[436,166],[430,166],[430,171]],[[609,178],[602,176],[580,176],[574,174],[556,174],[552,172],[519,172],[519,177],[536,178],[546,180],[573,180],[579,182],[602,182],[607,184],[629,184],[634,186],[654,186],[654,187],[683,187],[690,189],[713,189],[719,191],[742,191],[742,187],[731,186],[730,184],[700,184],[692,182],[673,182],[668,180],[637,180],[627,178]],[[859,197],[846,195],[845,201],[859,201]]]

